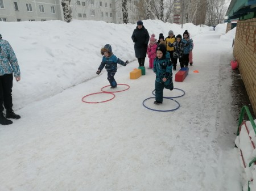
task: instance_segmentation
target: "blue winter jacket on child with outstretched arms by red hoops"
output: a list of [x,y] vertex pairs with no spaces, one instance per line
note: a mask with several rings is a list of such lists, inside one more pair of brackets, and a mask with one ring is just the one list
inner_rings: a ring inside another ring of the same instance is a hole
[[126,66],[126,63],[123,62],[121,59],[117,58],[116,56],[114,56],[113,53],[110,57],[103,56],[102,61],[101,61],[101,65],[98,67],[98,70],[104,69],[104,66],[105,66],[105,69],[108,72],[117,71],[117,64],[118,63],[123,65],[123,66]]

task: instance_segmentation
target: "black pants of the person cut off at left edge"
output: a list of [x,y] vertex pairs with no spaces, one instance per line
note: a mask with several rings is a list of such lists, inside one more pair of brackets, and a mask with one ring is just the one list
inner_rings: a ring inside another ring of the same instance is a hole
[[0,76],[0,112],[3,112],[3,105],[6,109],[13,108],[13,97],[11,96],[13,88],[13,74]]

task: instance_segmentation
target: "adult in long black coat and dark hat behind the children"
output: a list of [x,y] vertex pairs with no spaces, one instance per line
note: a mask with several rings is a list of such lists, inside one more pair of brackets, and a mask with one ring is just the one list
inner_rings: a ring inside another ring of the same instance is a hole
[[137,27],[134,29],[131,39],[134,42],[135,56],[138,58],[139,66],[144,66],[150,36],[141,20],[137,22]]

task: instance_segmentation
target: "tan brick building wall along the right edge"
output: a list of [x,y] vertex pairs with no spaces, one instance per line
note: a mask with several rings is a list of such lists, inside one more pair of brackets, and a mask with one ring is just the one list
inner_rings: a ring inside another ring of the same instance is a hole
[[233,54],[256,115],[256,18],[237,22]]

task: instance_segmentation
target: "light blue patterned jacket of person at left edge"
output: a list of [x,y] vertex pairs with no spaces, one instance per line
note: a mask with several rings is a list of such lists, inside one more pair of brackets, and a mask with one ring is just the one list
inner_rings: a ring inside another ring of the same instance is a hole
[[8,41],[0,39],[0,76],[11,73],[20,77],[18,61]]

